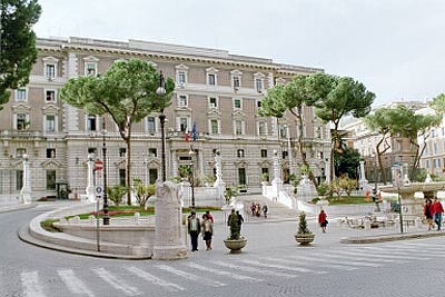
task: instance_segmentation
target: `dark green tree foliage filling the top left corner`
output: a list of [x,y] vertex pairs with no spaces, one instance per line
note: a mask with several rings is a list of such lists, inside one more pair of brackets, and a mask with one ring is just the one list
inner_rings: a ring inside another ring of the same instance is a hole
[[37,0],[0,1],[0,110],[9,101],[9,89],[29,82],[37,60],[32,24],[39,20],[40,12]]

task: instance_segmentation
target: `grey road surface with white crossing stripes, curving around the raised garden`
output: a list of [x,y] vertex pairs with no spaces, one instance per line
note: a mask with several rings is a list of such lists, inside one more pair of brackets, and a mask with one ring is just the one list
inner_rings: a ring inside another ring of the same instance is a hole
[[244,226],[244,253],[230,255],[217,221],[212,250],[200,242],[185,260],[110,260],[20,241],[18,228],[41,211],[48,208],[0,214],[0,296],[444,295],[443,237],[354,246],[338,244],[348,230],[330,229],[298,247],[295,222],[253,222]]

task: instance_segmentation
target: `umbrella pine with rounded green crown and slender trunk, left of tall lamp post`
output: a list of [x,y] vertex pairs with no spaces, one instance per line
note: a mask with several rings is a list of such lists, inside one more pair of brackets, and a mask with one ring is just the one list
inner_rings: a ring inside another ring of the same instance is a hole
[[[131,127],[152,111],[171,103],[175,82],[165,82],[166,95],[156,93],[160,73],[146,61],[131,59],[117,61],[103,75],[72,78],[60,90],[60,98],[89,115],[109,115],[127,145],[126,184],[131,181]],[[130,204],[130,194],[127,202]]]

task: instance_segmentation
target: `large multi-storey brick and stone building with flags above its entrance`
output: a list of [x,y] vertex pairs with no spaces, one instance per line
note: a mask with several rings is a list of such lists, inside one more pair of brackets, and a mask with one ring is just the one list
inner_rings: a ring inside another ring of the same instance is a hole
[[[176,80],[172,105],[166,110],[167,175],[178,176],[181,165],[194,164],[195,175],[214,175],[214,156],[220,151],[228,185],[259,191],[261,174],[273,172],[271,156],[283,157],[283,179],[299,172],[295,149],[297,127],[291,118],[257,115],[261,98],[275,83],[316,68],[276,63],[270,59],[230,55],[225,50],[129,40],[86,38],[38,39],[39,56],[28,86],[12,91],[0,111],[0,195],[22,187],[22,156],[30,160],[34,199],[85,194],[88,156],[102,158],[102,118],[62,103],[59,90],[75,77],[107,71],[120,59],[137,58]],[[315,176],[324,178],[329,131],[305,108],[304,139]],[[132,130],[131,176],[154,182],[160,172],[160,127],[157,113]],[[197,139],[185,141],[196,127]],[[108,185],[125,182],[126,146],[116,125],[106,118]],[[195,151],[190,155],[190,148]],[[273,178],[273,177],[270,177]]]

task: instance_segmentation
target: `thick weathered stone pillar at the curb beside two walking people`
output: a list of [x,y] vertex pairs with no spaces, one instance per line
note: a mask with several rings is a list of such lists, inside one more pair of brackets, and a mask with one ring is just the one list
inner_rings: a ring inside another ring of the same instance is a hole
[[175,260],[187,258],[187,247],[181,239],[181,202],[179,187],[171,181],[156,182],[156,235],[152,259]]

